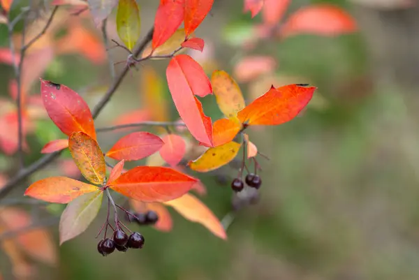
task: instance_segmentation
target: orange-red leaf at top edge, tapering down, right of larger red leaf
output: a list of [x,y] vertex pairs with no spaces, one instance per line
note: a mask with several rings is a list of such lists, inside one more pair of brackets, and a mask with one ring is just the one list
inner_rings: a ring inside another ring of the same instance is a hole
[[184,24],[189,36],[203,22],[212,8],[214,0],[185,0]]

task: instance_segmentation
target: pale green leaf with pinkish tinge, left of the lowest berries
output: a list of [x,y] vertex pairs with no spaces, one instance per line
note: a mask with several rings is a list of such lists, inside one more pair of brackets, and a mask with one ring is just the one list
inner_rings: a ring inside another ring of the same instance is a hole
[[87,229],[101,209],[103,191],[86,193],[68,203],[59,221],[59,244],[73,239]]

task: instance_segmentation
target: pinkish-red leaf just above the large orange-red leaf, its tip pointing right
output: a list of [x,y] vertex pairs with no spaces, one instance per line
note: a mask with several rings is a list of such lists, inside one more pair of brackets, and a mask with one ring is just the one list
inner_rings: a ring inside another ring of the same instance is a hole
[[133,132],[119,139],[106,153],[112,159],[138,161],[159,151],[164,142],[149,132]]

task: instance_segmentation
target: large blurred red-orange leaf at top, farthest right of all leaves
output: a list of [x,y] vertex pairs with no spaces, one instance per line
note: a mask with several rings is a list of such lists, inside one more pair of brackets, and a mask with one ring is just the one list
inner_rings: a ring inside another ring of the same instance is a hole
[[351,15],[330,4],[317,4],[300,8],[284,23],[282,36],[316,34],[335,36],[356,31]]

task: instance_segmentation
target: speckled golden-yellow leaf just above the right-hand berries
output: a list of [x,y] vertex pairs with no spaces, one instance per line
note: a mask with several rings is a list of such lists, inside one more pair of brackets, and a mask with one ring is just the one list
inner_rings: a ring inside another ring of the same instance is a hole
[[195,161],[188,163],[191,170],[198,172],[209,172],[216,170],[230,161],[233,161],[239,152],[240,144],[237,142],[228,142],[219,147],[207,149],[207,151]]

